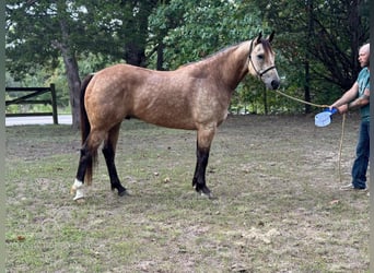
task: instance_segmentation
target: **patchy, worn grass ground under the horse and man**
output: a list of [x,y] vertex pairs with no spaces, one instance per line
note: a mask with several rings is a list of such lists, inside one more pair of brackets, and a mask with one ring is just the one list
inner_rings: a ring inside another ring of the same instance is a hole
[[[347,120],[349,179],[357,117]],[[341,192],[339,119],[230,117],[195,193],[192,131],[122,124],[109,189],[104,159],[85,203],[69,193],[79,132],[7,128],[7,272],[369,272],[369,198]]]

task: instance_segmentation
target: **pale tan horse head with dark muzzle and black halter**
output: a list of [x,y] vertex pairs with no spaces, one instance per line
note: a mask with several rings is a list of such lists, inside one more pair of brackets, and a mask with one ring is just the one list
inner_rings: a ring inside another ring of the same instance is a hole
[[250,40],[248,54],[248,71],[252,75],[258,76],[269,90],[277,90],[280,85],[279,75],[274,64],[276,54],[271,48],[274,37],[272,32],[267,38],[259,33],[257,38]]

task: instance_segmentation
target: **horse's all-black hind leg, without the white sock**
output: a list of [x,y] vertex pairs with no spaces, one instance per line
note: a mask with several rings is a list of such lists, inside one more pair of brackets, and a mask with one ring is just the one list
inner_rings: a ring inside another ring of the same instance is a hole
[[127,193],[126,188],[119,181],[117,168],[115,164],[116,145],[118,141],[120,123],[116,124],[108,132],[107,139],[104,141],[103,154],[108,169],[112,190],[117,189],[118,195],[122,197]]

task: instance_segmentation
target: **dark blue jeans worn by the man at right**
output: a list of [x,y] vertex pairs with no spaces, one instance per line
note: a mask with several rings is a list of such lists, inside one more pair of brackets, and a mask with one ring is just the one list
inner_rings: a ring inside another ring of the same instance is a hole
[[370,157],[370,122],[361,121],[355,159],[352,167],[352,185],[355,189],[366,188],[366,170]]

